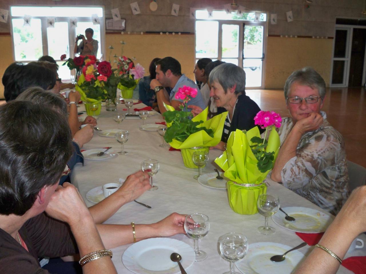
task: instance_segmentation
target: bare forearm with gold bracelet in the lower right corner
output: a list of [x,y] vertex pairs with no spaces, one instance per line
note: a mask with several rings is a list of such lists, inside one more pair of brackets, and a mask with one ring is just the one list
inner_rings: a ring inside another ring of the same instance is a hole
[[[319,244],[343,259],[352,241],[365,231],[366,186],[362,186],[352,192]],[[295,274],[333,274],[337,272],[339,266],[338,260],[328,252],[315,247]]]

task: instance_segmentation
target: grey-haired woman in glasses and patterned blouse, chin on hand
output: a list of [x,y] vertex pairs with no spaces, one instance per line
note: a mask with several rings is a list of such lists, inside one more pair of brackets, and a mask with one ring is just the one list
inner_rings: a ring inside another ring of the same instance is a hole
[[271,179],[336,214],[349,194],[348,170],[343,137],[320,111],[325,82],[314,69],[303,68],[288,77],[284,92],[291,117],[279,129]]

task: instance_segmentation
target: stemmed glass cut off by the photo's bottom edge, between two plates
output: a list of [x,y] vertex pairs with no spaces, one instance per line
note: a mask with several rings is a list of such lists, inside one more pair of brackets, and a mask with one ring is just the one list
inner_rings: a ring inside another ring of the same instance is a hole
[[248,239],[240,233],[227,233],[219,238],[220,252],[230,262],[230,271],[224,274],[239,274],[235,272],[235,262],[244,258],[248,252]]

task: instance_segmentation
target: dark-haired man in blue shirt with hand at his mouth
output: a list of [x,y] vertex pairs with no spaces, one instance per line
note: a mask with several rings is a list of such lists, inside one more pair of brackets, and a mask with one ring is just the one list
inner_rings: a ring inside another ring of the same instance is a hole
[[[197,88],[197,91],[199,91],[198,86],[191,79],[188,79],[184,74],[182,75],[181,66],[178,60],[173,57],[165,57],[156,62],[156,79],[151,80],[150,87],[155,91],[160,113],[167,111],[164,107],[164,103],[174,107],[176,110],[180,110],[179,105],[183,100],[176,99],[175,94],[178,92],[178,89],[184,85]],[[164,87],[172,88],[170,96],[167,91],[165,91]],[[199,106],[201,109],[206,108],[201,92],[197,92],[197,96],[192,98],[189,101],[189,104]],[[187,111],[191,111],[191,109],[187,109]]]

